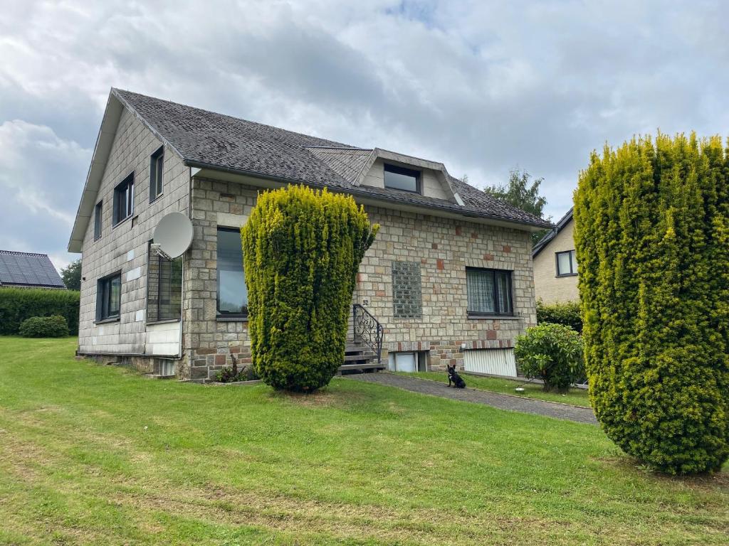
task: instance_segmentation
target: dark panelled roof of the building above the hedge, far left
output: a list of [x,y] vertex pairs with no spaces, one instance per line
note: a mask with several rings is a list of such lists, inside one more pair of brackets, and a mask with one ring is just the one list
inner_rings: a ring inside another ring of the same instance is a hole
[[66,290],[47,254],[0,250],[0,288]]

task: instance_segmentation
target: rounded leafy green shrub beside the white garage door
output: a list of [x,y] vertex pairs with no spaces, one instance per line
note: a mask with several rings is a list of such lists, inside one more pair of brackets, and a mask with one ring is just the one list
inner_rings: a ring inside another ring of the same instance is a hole
[[514,354],[522,373],[544,381],[545,391],[566,392],[585,375],[580,334],[564,324],[528,328],[517,338]]

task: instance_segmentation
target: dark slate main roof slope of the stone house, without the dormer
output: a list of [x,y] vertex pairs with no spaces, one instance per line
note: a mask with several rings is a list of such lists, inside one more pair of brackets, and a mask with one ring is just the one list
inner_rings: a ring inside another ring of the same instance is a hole
[[451,185],[464,205],[408,191],[354,186],[351,178],[354,171],[366,164],[373,149],[348,146],[130,91],[112,89],[112,95],[135,111],[190,167],[329,187],[355,197],[432,207],[473,217],[552,226],[450,175]]

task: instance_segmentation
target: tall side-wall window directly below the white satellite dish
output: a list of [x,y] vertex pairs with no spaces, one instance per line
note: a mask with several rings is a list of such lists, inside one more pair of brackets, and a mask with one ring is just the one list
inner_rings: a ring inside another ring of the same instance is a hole
[[168,260],[149,249],[147,323],[182,316],[182,257]]

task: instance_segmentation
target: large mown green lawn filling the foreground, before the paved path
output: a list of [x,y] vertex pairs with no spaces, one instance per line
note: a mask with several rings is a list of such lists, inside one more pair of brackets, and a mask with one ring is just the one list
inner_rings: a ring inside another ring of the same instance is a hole
[[335,379],[155,381],[0,338],[0,544],[726,545],[729,475],[597,427]]

